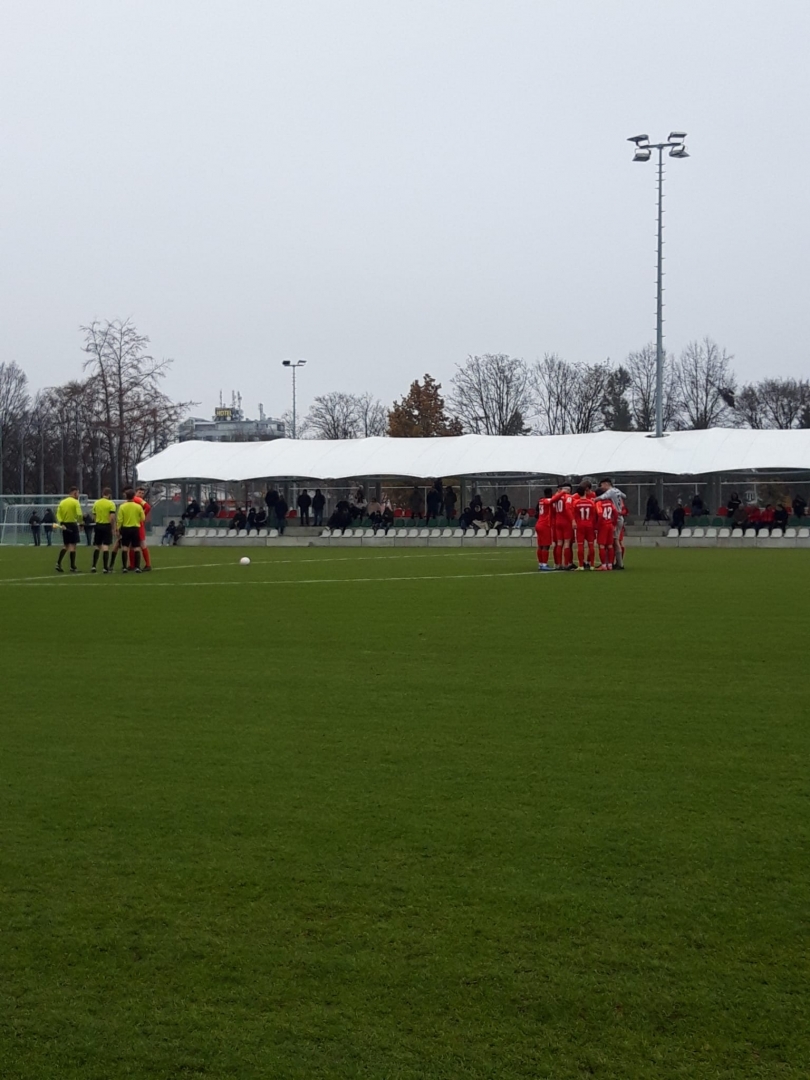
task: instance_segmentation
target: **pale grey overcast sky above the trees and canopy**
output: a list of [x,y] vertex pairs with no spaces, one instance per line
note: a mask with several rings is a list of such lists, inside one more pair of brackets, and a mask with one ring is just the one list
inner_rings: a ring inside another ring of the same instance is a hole
[[711,334],[810,374],[808,0],[3,0],[0,360],[132,315],[166,389],[390,402],[470,352]]

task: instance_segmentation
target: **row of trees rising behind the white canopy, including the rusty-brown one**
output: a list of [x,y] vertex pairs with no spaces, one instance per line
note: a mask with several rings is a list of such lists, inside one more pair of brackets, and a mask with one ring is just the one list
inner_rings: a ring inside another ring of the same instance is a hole
[[[690,342],[664,363],[667,431],[702,428],[810,428],[810,382],[768,378],[738,386],[733,357],[712,338]],[[527,364],[505,353],[468,356],[446,399],[430,375],[387,409],[369,394],[315,397],[302,424],[311,438],[364,435],[567,435],[653,431],[656,347],[621,364],[575,363],[556,353]],[[372,418],[372,422],[369,422]]]

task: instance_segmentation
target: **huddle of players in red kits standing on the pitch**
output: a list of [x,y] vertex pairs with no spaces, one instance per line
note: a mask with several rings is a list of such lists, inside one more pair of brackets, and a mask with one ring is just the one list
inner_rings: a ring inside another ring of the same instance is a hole
[[[602,492],[594,491],[590,482],[572,490],[571,484],[561,484],[556,491],[546,487],[537,504],[537,562],[539,570],[612,570],[622,565],[624,552],[624,517],[627,508],[617,505],[608,497],[611,485],[603,481]],[[573,544],[577,562],[573,564]],[[596,549],[599,566],[596,566]],[[554,566],[549,566],[549,553],[554,551]]]

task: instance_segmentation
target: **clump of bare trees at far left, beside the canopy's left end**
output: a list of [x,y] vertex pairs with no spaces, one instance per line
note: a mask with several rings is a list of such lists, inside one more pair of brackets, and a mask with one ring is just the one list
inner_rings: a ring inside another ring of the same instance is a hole
[[18,364],[0,364],[0,491],[64,491],[67,484],[119,497],[143,458],[176,438],[190,402],[161,381],[172,363],[149,351],[130,320],[80,328],[82,377],[31,393]]

